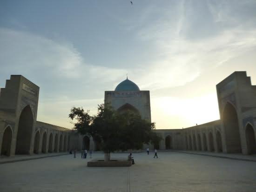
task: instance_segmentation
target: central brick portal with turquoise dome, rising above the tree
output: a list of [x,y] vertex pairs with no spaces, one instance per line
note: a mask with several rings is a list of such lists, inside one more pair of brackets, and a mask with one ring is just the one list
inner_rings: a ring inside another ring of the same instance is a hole
[[128,110],[138,113],[142,119],[151,122],[149,91],[141,91],[139,86],[128,78],[119,83],[115,91],[105,91],[104,103],[120,113]]

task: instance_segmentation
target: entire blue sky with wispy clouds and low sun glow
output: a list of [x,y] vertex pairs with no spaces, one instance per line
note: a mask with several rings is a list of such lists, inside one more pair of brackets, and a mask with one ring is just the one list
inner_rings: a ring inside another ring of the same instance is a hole
[[216,84],[256,85],[256,0],[0,0],[0,87],[40,86],[37,120],[72,128],[128,79],[150,91],[157,129],[219,119]]

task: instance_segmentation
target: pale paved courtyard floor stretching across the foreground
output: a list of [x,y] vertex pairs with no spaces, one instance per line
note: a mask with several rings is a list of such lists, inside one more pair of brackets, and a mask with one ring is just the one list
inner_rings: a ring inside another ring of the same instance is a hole
[[[134,153],[131,167],[63,155],[0,165],[0,192],[256,192],[256,162],[181,152]],[[126,158],[111,153],[111,158]],[[95,152],[94,158],[103,158]]]

